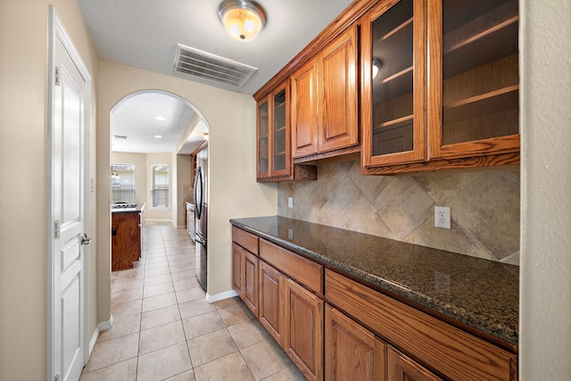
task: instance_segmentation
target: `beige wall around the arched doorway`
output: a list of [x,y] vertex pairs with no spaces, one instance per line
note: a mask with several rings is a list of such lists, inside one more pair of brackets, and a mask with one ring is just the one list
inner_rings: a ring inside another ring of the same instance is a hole
[[[208,293],[231,290],[231,229],[228,219],[277,212],[277,186],[258,184],[255,179],[255,103],[242,95],[184,79],[139,70],[115,62],[100,61],[99,125],[97,161],[109,169],[109,111],[123,97],[140,90],[163,90],[194,105],[210,127],[209,161],[209,272]],[[223,112],[221,112],[223,110]],[[100,170],[98,202],[108,204],[108,170]],[[228,184],[232,185],[228,192]],[[98,228],[109,231],[109,211],[100,208]],[[103,246],[109,236],[99,237]],[[103,257],[103,256],[102,256]],[[108,257],[104,261],[109,261]],[[109,274],[104,277],[109,278]],[[103,280],[102,280],[103,281]],[[108,281],[108,280],[107,280]],[[100,311],[108,313],[109,294],[100,294]],[[103,315],[102,319],[103,319]],[[107,318],[108,319],[108,318]]]

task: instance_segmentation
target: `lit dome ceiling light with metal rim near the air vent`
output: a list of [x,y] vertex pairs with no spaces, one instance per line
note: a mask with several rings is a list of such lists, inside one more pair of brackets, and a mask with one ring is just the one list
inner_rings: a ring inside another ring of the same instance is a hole
[[224,0],[218,17],[228,34],[238,41],[252,41],[266,24],[266,13],[250,0]]

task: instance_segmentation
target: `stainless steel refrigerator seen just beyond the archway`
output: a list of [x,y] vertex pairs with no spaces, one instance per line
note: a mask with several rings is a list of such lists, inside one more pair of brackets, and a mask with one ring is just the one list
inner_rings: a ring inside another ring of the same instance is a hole
[[194,243],[196,245],[196,276],[206,291],[206,261],[208,258],[208,148],[196,154],[196,174],[194,175]]

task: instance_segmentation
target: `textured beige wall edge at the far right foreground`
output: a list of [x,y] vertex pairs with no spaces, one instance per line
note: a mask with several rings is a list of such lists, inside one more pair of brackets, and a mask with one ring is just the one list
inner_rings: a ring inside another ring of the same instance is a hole
[[571,379],[571,3],[520,1],[519,379]]

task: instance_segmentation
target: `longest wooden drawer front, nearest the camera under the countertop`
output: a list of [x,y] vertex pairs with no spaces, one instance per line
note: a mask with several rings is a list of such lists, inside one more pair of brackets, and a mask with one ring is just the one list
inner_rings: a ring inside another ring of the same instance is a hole
[[517,379],[517,356],[331,270],[326,300],[451,379]]

